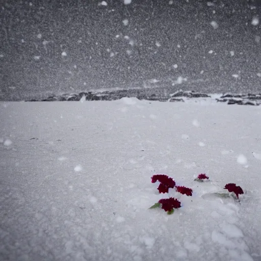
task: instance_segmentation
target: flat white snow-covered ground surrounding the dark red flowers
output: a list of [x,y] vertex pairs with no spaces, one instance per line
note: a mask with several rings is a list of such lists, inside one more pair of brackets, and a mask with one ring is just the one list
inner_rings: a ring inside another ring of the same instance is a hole
[[[261,107],[2,102],[0,121],[0,260],[261,260]],[[240,202],[213,194],[229,182]]]

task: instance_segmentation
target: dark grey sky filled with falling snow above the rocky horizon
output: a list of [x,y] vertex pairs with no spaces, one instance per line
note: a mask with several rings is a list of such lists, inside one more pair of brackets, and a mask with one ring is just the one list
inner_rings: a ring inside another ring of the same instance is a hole
[[0,99],[179,89],[179,76],[187,90],[261,92],[260,0],[106,2],[0,0]]

